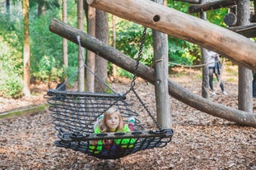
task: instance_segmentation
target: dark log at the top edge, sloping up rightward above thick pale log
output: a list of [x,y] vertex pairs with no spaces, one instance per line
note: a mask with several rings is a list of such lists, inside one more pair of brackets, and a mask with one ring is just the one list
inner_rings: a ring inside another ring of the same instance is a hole
[[235,0],[221,0],[221,1],[214,1],[214,2],[207,2],[198,5],[191,5],[189,6],[189,13],[197,13],[200,11],[211,11],[220,9],[222,7],[230,7],[236,4]]

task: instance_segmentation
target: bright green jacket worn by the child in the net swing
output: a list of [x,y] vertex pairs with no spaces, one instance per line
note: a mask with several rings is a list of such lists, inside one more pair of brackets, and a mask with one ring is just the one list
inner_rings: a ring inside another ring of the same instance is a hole
[[[127,124],[123,126],[123,132],[129,132],[130,129]],[[95,133],[101,133],[100,127],[96,126]],[[120,131],[118,131],[120,132]],[[118,145],[121,148],[133,148],[133,144],[135,143],[135,139],[116,139],[114,140],[114,145]],[[103,145],[102,140],[98,141],[97,145],[89,144],[89,149],[92,153],[98,154],[102,151],[102,149],[108,149],[110,145]]]

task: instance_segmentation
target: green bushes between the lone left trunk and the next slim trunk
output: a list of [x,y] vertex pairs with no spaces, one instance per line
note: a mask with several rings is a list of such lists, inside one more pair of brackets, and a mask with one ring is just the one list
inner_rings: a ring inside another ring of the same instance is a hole
[[32,76],[38,80],[62,79],[62,39],[49,31],[45,23],[50,23],[48,15],[36,18],[30,26],[30,66]]

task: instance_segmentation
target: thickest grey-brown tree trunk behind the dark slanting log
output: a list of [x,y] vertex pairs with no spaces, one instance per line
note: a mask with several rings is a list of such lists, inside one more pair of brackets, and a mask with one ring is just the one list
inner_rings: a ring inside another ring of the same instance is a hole
[[[104,11],[96,10],[96,32],[95,37],[100,39],[104,44],[109,44],[109,26],[107,14]],[[95,74],[100,77],[100,80],[104,82],[108,79],[107,74],[107,61],[96,55],[95,57]],[[95,79],[95,91],[105,92],[106,86],[100,82],[99,79]]]

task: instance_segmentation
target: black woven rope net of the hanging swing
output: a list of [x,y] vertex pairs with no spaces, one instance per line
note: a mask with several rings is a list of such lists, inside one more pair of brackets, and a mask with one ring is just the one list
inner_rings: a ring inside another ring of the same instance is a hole
[[[58,140],[55,145],[80,151],[98,159],[119,159],[143,149],[165,147],[173,136],[171,129],[145,131],[138,113],[126,103],[123,94],[99,94],[48,90],[44,96],[49,103]],[[115,106],[119,108],[123,122],[135,117],[134,131],[95,134],[96,119],[105,111]],[[119,140],[120,145],[111,144],[102,149],[102,144],[90,147],[90,140]],[[125,143],[122,141],[126,140]],[[128,140],[128,141],[127,141]]]

